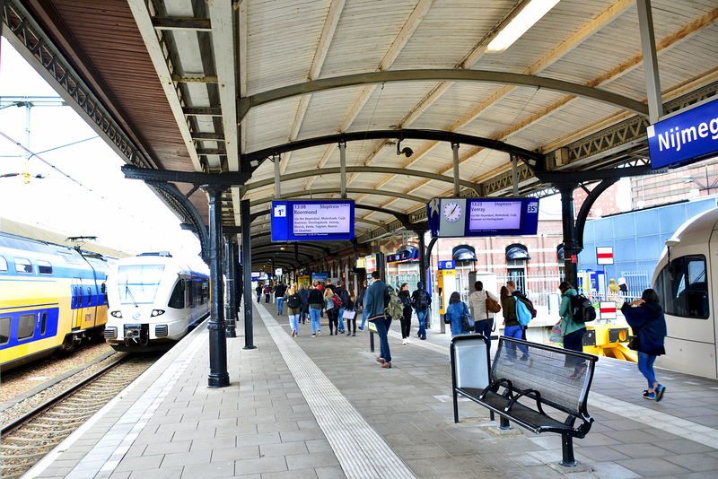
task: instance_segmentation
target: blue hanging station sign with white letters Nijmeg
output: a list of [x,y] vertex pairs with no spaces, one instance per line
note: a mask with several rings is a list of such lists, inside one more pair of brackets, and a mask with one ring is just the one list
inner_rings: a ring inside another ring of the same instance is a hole
[[718,100],[648,126],[651,168],[683,166],[718,153]]

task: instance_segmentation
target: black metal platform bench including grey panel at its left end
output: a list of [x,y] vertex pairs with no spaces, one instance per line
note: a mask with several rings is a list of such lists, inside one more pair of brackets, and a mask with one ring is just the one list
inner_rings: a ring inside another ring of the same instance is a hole
[[[599,358],[506,336],[499,337],[490,370],[488,356],[482,335],[451,340],[454,422],[459,422],[458,396],[466,396],[491,411],[492,420],[499,414],[500,429],[511,429],[512,421],[537,434],[561,434],[560,464],[577,466],[573,440],[591,430],[586,401]],[[552,408],[551,415],[544,411],[546,406]],[[557,418],[564,414],[565,420]]]

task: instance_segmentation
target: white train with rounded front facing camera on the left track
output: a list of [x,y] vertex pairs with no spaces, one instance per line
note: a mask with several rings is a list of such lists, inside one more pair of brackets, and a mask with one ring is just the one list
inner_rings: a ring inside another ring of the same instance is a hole
[[209,278],[169,253],[118,261],[108,277],[105,339],[118,351],[167,349],[209,315]]

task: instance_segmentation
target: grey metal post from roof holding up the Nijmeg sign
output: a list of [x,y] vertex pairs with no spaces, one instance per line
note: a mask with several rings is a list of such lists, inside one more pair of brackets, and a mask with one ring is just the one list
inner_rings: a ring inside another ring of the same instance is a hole
[[641,32],[641,48],[644,52],[645,90],[648,98],[648,119],[651,124],[663,115],[661,80],[658,74],[656,38],[653,33],[651,0],[636,0],[638,7],[638,30]]

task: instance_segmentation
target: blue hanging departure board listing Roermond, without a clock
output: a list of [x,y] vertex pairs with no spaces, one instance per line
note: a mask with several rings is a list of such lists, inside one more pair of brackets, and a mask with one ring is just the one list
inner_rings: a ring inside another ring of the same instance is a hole
[[353,200],[272,202],[272,241],[354,239]]

